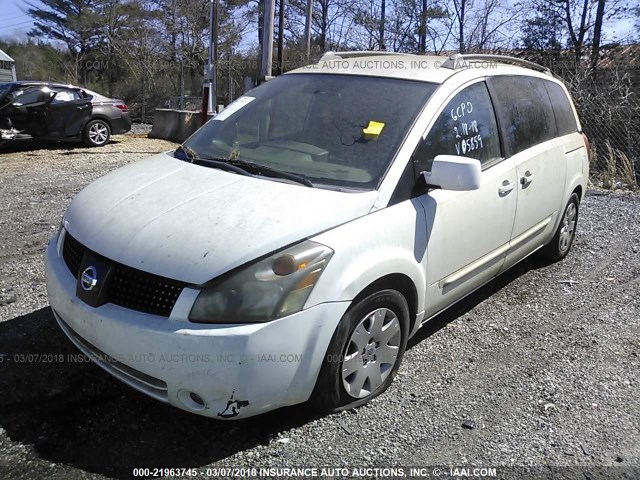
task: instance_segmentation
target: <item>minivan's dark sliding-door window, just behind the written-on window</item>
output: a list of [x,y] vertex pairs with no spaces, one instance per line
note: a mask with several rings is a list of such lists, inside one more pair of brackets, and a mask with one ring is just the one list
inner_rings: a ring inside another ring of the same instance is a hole
[[510,155],[556,137],[556,119],[539,78],[499,76],[491,80]]

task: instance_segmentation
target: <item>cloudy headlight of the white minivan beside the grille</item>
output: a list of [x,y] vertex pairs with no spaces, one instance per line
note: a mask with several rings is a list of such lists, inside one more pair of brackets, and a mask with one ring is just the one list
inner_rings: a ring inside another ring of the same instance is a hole
[[333,250],[304,241],[205,286],[191,309],[197,323],[259,323],[302,310]]

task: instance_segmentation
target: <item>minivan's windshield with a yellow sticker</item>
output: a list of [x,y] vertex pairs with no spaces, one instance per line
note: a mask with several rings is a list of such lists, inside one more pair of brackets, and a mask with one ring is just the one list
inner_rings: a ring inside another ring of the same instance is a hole
[[250,162],[316,186],[375,189],[436,85],[289,74],[240,97],[186,142],[192,155]]

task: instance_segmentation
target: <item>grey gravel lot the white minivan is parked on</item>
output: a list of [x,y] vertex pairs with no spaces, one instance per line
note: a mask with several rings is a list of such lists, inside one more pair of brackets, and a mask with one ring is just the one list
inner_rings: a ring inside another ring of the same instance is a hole
[[0,478],[348,468],[342,477],[376,466],[434,477],[478,465],[498,478],[640,478],[638,195],[589,192],[565,261],[527,260],[440,315],[391,389],[357,411],[319,418],[298,406],[221,423],[78,357],[52,360],[76,353],[48,307],[42,264],[64,209],[93,179],[171,147],[127,135],[101,149],[0,152],[0,288],[17,295],[0,306]]

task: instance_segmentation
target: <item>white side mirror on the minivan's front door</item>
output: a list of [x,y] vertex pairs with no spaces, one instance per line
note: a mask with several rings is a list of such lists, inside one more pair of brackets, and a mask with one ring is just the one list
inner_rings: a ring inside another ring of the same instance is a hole
[[477,190],[480,188],[482,168],[473,158],[456,155],[438,155],[430,172],[422,172],[427,185],[443,190]]

